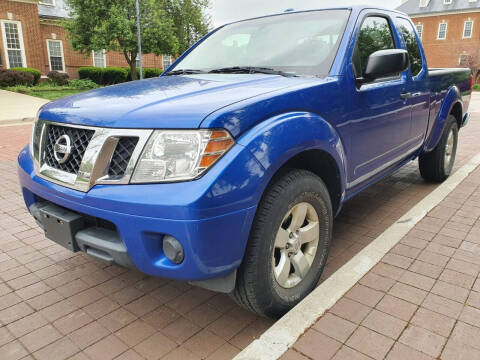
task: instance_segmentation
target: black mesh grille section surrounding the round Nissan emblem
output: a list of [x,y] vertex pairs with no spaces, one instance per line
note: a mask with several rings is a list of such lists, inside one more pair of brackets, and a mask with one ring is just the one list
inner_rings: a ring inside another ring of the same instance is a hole
[[[72,174],[78,174],[83,155],[92,139],[94,130],[73,128],[58,125],[47,125],[44,160],[48,166]],[[67,161],[60,164],[54,155],[55,142],[62,135],[68,135],[71,140],[71,154]]]

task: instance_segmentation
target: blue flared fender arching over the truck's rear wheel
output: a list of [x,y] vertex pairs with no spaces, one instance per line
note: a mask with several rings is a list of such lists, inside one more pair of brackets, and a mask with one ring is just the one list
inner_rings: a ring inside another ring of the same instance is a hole
[[458,87],[452,86],[450,89],[448,89],[445,97],[443,98],[440,111],[438,112],[435,122],[432,126],[432,130],[425,141],[425,146],[423,149],[424,152],[432,151],[435,146],[437,146],[440,138],[442,137],[443,130],[445,129],[448,115],[451,114],[452,109],[456,104],[460,104],[460,106],[462,106],[462,96]]

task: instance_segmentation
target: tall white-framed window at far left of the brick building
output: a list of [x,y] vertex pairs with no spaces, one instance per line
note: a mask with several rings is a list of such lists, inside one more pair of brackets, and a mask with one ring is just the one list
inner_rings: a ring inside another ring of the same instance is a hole
[[2,21],[3,43],[7,68],[26,67],[22,24],[18,21]]

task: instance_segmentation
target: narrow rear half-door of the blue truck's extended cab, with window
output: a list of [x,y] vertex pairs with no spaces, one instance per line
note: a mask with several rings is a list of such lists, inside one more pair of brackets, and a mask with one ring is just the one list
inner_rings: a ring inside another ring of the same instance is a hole
[[407,82],[407,102],[412,107],[411,137],[417,140],[416,147],[420,147],[427,131],[430,91],[428,84],[428,70],[422,58],[419,41],[413,24],[402,17],[397,17],[397,30],[403,37],[405,49],[410,59],[410,73]]

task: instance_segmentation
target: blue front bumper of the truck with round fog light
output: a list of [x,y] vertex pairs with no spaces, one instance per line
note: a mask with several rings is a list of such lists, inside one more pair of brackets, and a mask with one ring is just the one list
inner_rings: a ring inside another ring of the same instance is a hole
[[[112,223],[128,257],[154,276],[202,281],[224,277],[241,263],[255,215],[263,168],[237,145],[201,179],[145,185],[97,185],[87,193],[38,177],[28,147],[18,159],[28,208],[48,201]],[[171,235],[185,251],[172,263],[162,250]]]

